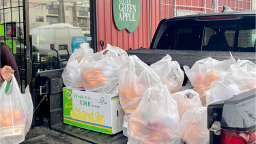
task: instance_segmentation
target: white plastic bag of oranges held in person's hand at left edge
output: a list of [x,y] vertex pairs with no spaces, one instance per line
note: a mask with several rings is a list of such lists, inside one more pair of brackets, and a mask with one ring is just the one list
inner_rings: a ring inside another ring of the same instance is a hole
[[0,89],[0,143],[21,143],[25,140],[33,117],[29,86],[24,94],[20,93],[15,76],[7,93],[5,93],[6,85],[5,81]]

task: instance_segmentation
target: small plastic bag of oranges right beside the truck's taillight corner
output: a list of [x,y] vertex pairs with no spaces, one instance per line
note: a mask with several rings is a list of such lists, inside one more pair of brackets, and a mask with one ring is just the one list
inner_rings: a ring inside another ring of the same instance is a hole
[[179,130],[180,138],[187,144],[208,144],[207,108],[190,109],[184,113]]

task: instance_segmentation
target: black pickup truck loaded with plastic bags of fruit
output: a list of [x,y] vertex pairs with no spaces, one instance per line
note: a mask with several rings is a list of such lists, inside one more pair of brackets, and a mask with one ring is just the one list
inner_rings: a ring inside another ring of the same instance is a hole
[[[180,66],[212,57],[255,63],[255,11],[198,14],[160,21],[150,48],[127,51],[148,65],[169,54]],[[63,69],[38,72],[30,85],[36,108],[23,143],[127,143],[126,136],[102,134],[63,124]],[[184,79],[186,85],[188,78]],[[208,106],[210,143],[255,143],[255,89]],[[236,115],[229,119],[230,113]],[[223,119],[229,119],[225,121]],[[50,128],[50,129],[49,129]]]

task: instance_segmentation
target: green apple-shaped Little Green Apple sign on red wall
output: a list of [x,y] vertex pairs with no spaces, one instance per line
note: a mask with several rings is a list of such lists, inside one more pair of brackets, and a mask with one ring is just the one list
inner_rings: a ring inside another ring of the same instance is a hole
[[113,17],[119,31],[136,31],[141,16],[140,0],[113,0]]

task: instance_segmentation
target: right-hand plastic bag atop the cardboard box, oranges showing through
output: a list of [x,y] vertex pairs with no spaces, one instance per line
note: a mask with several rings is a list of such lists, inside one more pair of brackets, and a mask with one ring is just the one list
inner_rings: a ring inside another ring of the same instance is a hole
[[[104,52],[107,53],[105,55]],[[83,63],[81,78],[85,91],[109,93],[118,83],[119,68],[126,63],[128,55],[121,48],[108,44],[104,51],[91,56]]]

